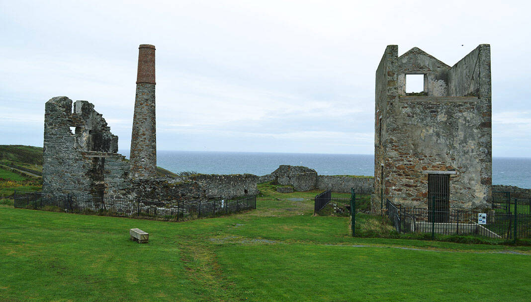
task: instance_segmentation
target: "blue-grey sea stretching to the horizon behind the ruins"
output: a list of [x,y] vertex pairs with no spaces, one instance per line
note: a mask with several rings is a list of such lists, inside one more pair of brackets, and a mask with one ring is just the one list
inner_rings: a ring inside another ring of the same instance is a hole
[[[120,150],[129,158],[129,150]],[[157,151],[157,165],[172,172],[266,175],[280,165],[305,166],[319,175],[374,175],[374,156],[266,152]],[[531,158],[494,157],[492,183],[531,188]]]

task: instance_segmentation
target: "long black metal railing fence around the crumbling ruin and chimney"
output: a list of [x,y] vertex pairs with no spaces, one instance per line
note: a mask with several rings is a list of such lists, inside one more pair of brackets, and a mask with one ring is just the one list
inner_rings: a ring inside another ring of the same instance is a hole
[[13,197],[15,208],[169,221],[256,209],[256,196],[175,202],[117,199],[112,196],[101,199],[91,195],[41,192],[15,192]]

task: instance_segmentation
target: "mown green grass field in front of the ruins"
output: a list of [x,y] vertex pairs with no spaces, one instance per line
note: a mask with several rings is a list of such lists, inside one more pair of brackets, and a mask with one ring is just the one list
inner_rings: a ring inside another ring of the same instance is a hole
[[[531,250],[352,238],[317,192],[187,222],[0,205],[0,301],[528,301]],[[302,199],[302,200],[301,200]],[[148,244],[129,229],[150,233]]]

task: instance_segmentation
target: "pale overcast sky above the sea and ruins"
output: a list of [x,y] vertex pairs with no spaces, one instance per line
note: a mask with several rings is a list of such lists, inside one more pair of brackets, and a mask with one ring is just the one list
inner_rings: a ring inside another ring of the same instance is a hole
[[0,0],[0,144],[88,100],[129,149],[138,46],[156,46],[159,150],[374,152],[387,45],[452,66],[491,44],[493,156],[531,156],[527,1]]

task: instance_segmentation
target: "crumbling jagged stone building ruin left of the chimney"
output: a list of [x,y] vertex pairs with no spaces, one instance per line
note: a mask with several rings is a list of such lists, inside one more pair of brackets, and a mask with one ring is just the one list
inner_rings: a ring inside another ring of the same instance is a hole
[[[75,128],[72,132],[71,128]],[[129,165],[116,153],[118,137],[87,101],[55,97],[46,102],[42,191],[119,194]]]

